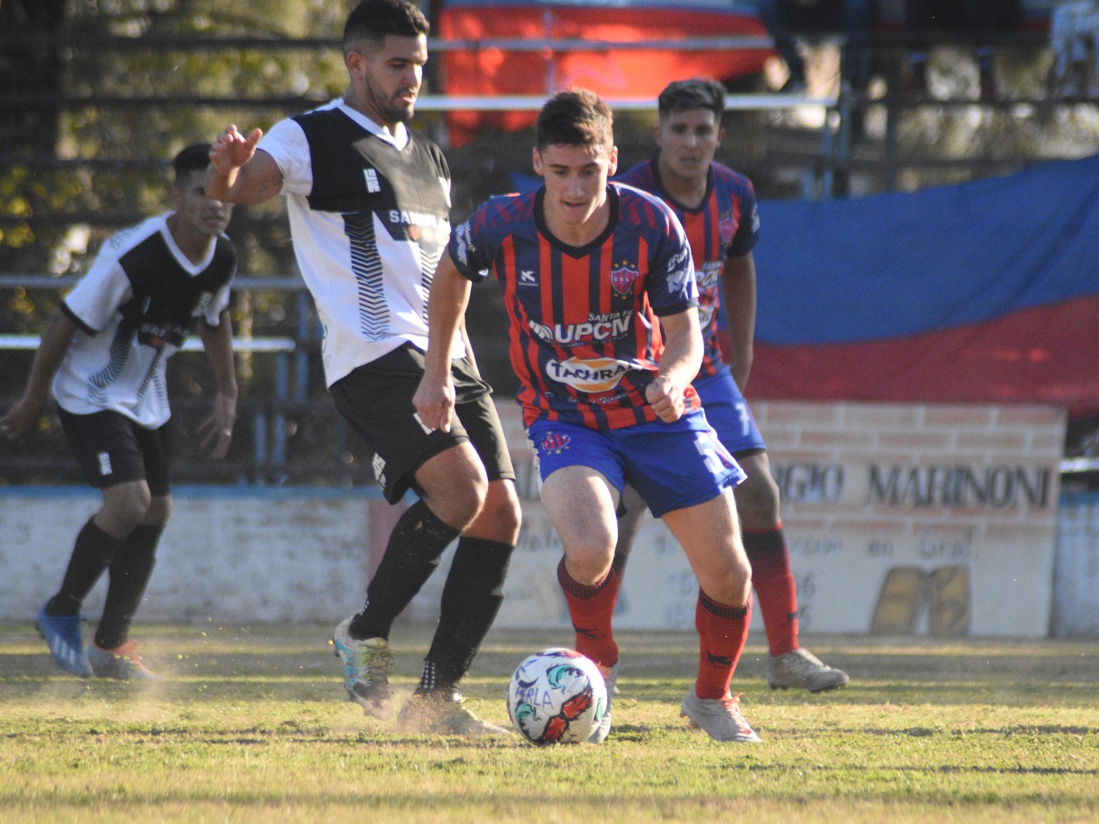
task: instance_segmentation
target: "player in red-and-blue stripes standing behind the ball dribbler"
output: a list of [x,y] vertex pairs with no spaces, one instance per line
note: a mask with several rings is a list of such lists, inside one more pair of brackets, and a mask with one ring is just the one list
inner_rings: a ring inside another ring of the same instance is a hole
[[[702,368],[693,383],[721,443],[747,474],[736,489],[736,509],[770,648],[767,680],[773,687],[820,692],[843,687],[847,675],[823,665],[798,643],[798,597],[778,487],[770,476],[767,445],[743,396],[752,369],[756,308],[752,249],[759,219],[751,181],[713,159],[724,137],[724,87],[717,80],[669,83],[659,97],[659,153],[619,179],[659,196],[675,211],[690,241],[706,339]],[[730,366],[722,360],[718,341],[722,292],[733,337]],[[628,503],[630,498],[628,491]],[[626,509],[615,553],[620,574],[642,514],[639,506]]]

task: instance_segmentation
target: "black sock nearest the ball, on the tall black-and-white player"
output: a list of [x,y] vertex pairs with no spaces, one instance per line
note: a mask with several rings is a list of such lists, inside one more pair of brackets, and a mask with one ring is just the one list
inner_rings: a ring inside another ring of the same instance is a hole
[[451,689],[473,665],[503,603],[503,579],[514,548],[485,538],[458,541],[420,691]]

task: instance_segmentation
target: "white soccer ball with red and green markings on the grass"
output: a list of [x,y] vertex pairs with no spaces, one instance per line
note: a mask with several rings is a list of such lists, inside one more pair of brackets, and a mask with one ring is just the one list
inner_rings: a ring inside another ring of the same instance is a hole
[[554,647],[526,658],[508,684],[508,715],[534,744],[585,742],[607,713],[607,684],[595,662]]

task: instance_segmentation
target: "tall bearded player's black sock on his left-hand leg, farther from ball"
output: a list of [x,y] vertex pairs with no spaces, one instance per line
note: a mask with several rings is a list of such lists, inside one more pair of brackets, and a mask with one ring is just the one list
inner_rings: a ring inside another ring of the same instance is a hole
[[389,638],[393,620],[415,598],[439,566],[439,556],[459,535],[426,503],[417,501],[400,516],[378,571],[366,588],[366,604],[352,619],[353,638]]

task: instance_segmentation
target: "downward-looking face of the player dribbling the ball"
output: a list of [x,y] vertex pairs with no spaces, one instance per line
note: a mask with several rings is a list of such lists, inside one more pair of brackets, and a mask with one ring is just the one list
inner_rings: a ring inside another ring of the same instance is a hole
[[551,215],[582,226],[607,202],[607,178],[618,169],[618,146],[552,145],[534,149],[534,170],[545,179]]

